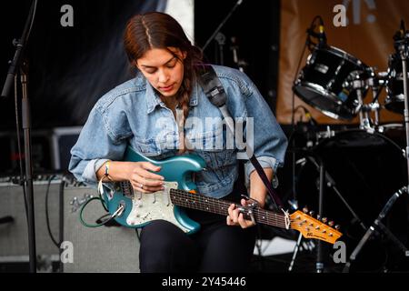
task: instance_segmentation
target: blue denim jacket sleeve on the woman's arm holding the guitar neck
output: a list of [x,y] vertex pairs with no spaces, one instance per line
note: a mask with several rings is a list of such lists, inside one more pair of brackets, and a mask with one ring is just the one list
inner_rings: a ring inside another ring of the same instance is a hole
[[[235,115],[237,111],[245,111],[247,122],[244,129],[247,144],[253,146],[254,156],[264,168],[271,167],[276,172],[279,166],[284,166],[284,155],[287,147],[287,138],[283,130],[277,123],[269,105],[260,94],[250,78],[240,71],[235,72],[236,85],[230,87],[230,93],[234,95],[234,104],[231,104]],[[227,92],[229,97],[230,94]],[[240,100],[237,99],[240,95]],[[244,108],[240,108],[243,107]],[[249,118],[253,122],[248,122]],[[252,125],[253,124],[253,125]],[[252,131],[252,133],[248,131]],[[253,144],[253,145],[252,145]],[[251,153],[249,153],[251,154]],[[250,161],[244,164],[245,184],[248,185],[250,174],[254,171],[254,166]]]

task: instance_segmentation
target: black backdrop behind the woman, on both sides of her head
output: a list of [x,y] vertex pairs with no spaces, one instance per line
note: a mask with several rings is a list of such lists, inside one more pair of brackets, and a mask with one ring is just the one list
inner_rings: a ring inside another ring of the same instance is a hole
[[[195,1],[195,38],[205,44],[237,1]],[[224,65],[234,66],[230,38],[237,38],[238,53],[248,64],[245,72],[274,108],[278,62],[279,1],[244,0],[224,25]],[[0,4],[0,84],[7,61],[14,55],[12,40],[22,34],[31,1]],[[74,27],[63,27],[62,5],[74,8]],[[95,101],[130,78],[122,45],[126,20],[137,12],[164,10],[166,0],[56,0],[39,1],[27,46],[29,98],[35,129],[83,125]],[[220,64],[215,42],[205,50],[207,60]],[[0,100],[0,130],[15,128],[13,96]]]

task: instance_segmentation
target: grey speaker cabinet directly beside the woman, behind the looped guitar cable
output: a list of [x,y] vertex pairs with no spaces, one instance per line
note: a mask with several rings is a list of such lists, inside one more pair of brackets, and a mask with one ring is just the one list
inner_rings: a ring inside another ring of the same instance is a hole
[[[64,240],[71,242],[73,263],[64,264],[64,272],[139,272],[139,240],[135,229],[124,226],[86,227],[80,223],[79,209],[96,190],[66,187],[64,208]],[[88,224],[105,215],[97,200],[84,210]]]

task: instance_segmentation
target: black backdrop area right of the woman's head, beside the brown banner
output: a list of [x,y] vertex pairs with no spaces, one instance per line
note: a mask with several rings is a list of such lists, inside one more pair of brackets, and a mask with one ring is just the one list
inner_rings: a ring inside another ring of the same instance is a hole
[[[195,1],[195,41],[198,46],[205,45],[236,3],[237,0]],[[275,108],[278,74],[279,17],[279,0],[244,0],[221,29],[225,36],[224,65],[236,66],[231,49],[231,38],[235,37],[238,56],[247,64],[244,72],[258,86],[272,110]],[[205,56],[211,63],[220,64],[216,41],[206,47]]]

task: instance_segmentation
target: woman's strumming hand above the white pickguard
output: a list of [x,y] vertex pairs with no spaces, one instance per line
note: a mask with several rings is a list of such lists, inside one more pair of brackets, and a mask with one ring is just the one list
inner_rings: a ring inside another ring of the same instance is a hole
[[127,163],[129,163],[127,179],[131,182],[135,190],[142,193],[153,193],[164,190],[165,178],[150,172],[159,172],[161,169],[160,166],[155,166],[149,162]]

